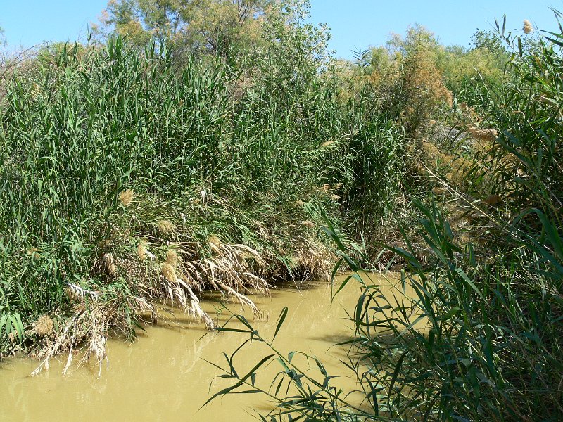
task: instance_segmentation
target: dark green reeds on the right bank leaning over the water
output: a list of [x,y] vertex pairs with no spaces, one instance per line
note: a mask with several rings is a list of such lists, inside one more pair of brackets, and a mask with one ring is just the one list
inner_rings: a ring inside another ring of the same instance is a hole
[[[514,47],[505,83],[474,80],[460,93],[467,103],[460,101],[464,106],[452,121],[468,136],[460,136],[452,166],[462,177],[429,169],[440,196],[413,199],[417,231],[403,231],[404,248],[387,248],[407,262],[394,295],[362,276],[352,250],[331,224],[325,228],[341,262],[355,271],[336,290],[350,282],[363,288],[350,309],[354,338],[342,344],[350,347],[343,364],[358,380],[363,401],[334,388],[315,357],[281,354],[274,339],[262,338],[248,321],[242,322],[249,341],[223,366],[233,385],[212,399],[262,392],[277,405],[260,416],[263,421],[561,420],[559,29],[529,51],[518,37],[502,33]],[[424,260],[415,251],[421,246]],[[252,340],[271,352],[249,373],[236,373],[234,358],[248,354]],[[257,388],[260,366],[274,360],[280,371],[270,390]]]

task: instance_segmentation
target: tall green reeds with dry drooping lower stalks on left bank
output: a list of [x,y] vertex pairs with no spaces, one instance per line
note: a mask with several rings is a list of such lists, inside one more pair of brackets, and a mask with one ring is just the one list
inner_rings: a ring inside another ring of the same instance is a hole
[[[362,186],[386,186],[374,214],[393,206],[399,175],[379,169],[400,166],[403,137],[369,105],[342,103],[321,77],[305,91],[241,93],[239,70],[220,60],[174,64],[165,48],[118,38],[27,60],[4,82],[4,354],[39,347],[42,365],[61,352],[70,364],[86,345],[101,362],[108,334],[134,335],[160,300],[211,328],[202,289],[258,313],[248,290],[326,278],[317,226],[358,195],[350,163],[372,162]],[[38,328],[46,319],[52,330]]]

